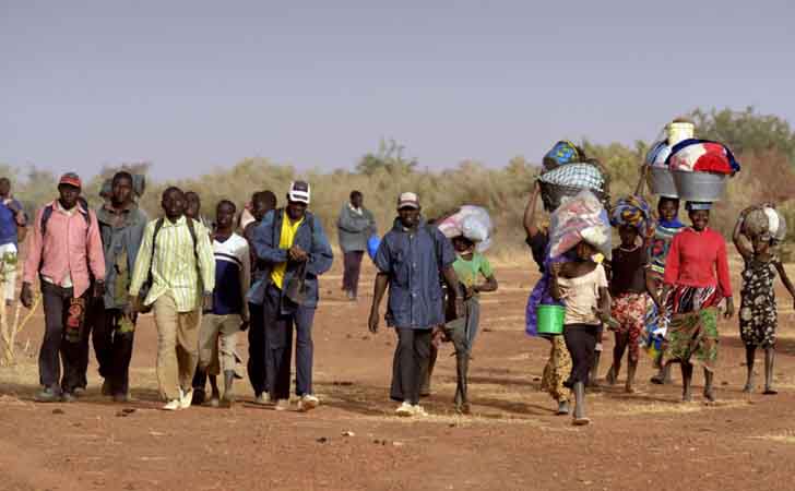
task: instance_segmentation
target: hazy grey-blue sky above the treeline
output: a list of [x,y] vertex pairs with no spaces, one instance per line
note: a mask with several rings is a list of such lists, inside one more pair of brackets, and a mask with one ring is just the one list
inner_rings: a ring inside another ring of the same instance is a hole
[[795,122],[791,1],[0,0],[0,163],[538,161],[695,107]]

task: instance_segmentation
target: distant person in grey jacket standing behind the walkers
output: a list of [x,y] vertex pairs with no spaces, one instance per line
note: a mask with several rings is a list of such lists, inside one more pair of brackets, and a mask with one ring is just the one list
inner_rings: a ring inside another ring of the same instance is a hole
[[336,228],[340,232],[340,249],[345,260],[342,289],[353,301],[356,300],[359,289],[361,258],[367,250],[367,240],[377,231],[376,220],[372,213],[365,208],[365,197],[361,192],[351,192],[351,201],[342,207]]

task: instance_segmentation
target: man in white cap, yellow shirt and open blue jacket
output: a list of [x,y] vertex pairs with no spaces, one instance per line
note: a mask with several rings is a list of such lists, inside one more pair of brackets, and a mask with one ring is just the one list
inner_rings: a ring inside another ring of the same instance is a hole
[[289,408],[293,327],[296,331],[298,410],[316,408],[312,391],[312,322],[318,307],[318,276],[331,267],[333,254],[319,219],[307,212],[309,183],[295,181],[287,207],[268,212],[254,230],[257,256],[270,274],[258,282],[249,299],[262,304],[266,336],[266,373],[277,410]]

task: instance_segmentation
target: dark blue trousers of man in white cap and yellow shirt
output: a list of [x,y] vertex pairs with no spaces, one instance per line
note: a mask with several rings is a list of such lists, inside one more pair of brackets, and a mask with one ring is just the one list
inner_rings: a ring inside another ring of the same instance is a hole
[[289,369],[293,357],[293,328],[296,332],[295,366],[296,395],[312,394],[312,363],[315,344],[312,343],[312,323],[315,309],[293,306],[282,308],[282,292],[274,285],[265,291],[262,304],[262,318],[265,324],[268,355],[265,357],[268,387],[271,398],[289,398]]

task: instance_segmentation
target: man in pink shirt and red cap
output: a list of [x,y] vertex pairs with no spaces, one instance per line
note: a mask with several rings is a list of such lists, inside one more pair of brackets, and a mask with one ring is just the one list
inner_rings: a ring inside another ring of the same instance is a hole
[[28,309],[33,306],[33,283],[38,276],[44,302],[45,335],[38,355],[43,390],[36,395],[43,403],[74,400],[86,300],[92,292],[102,297],[105,290],[99,227],[94,212],[80,200],[81,188],[76,173],[61,177],[59,199],[36,213],[25,261],[20,300]]

